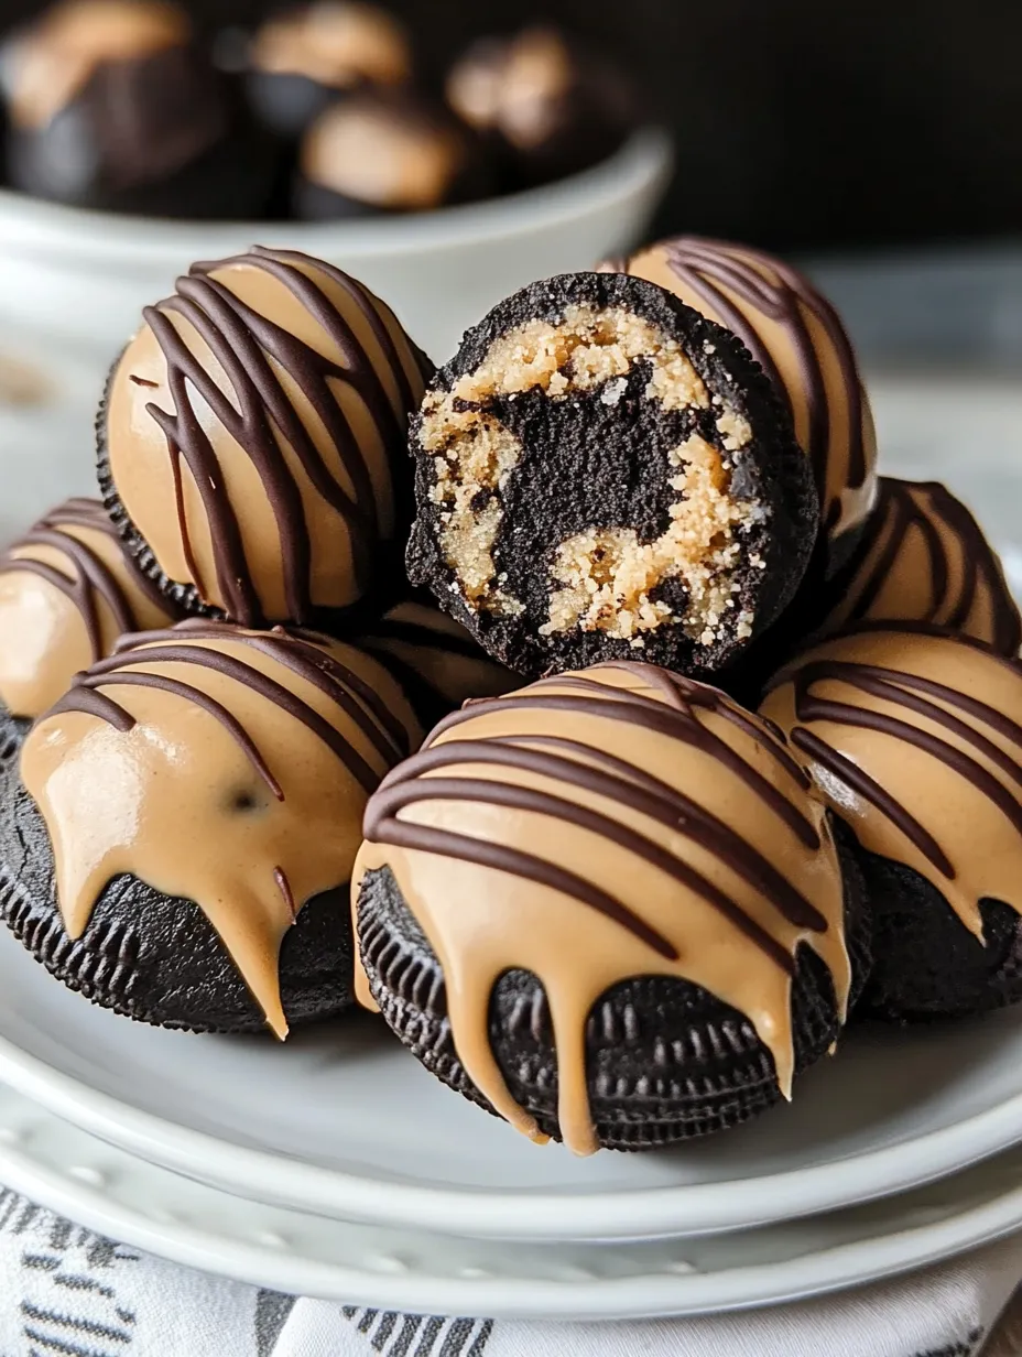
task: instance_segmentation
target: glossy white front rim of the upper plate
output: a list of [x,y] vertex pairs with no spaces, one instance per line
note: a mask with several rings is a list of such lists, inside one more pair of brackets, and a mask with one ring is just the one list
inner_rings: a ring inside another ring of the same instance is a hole
[[759,1178],[589,1193],[444,1189],[360,1177],[178,1125],[92,1088],[3,1035],[0,1080],[98,1140],[248,1201],[476,1239],[626,1242],[757,1228],[900,1196],[1022,1140],[1019,1092],[951,1126]]

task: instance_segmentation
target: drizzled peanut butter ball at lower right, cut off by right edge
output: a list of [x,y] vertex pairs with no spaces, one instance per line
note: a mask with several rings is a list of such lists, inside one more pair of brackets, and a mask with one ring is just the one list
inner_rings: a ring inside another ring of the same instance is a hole
[[1022,666],[923,626],[836,636],[761,714],[855,833],[874,916],[860,1010],[911,1020],[1022,999]]

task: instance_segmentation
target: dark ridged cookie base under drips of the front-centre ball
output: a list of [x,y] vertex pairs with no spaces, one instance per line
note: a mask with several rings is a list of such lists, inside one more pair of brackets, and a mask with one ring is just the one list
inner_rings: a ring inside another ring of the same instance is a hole
[[[835,835],[854,1003],[871,965],[870,925],[850,839],[840,826]],[[358,946],[373,999],[402,1042],[449,1088],[493,1111],[461,1068],[442,972],[387,867],[365,877]],[[797,954],[791,1004],[799,1073],[841,1027],[827,965],[805,946]],[[512,1096],[544,1134],[561,1139],[550,1011],[533,974],[501,976],[490,996],[489,1035]],[[774,1058],[749,1019],[673,977],[637,977],[597,1000],[586,1025],[586,1069],[597,1137],[608,1149],[651,1149],[726,1130],[780,1101]]]

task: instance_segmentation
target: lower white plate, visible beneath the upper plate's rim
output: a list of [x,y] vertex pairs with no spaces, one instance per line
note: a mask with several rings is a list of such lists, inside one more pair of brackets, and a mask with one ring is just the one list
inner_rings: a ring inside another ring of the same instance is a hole
[[740,1235],[630,1244],[456,1240],[182,1182],[0,1087],[0,1179],[92,1229],[276,1291],[417,1314],[698,1315],[907,1272],[1022,1224],[1022,1151],[904,1197]]

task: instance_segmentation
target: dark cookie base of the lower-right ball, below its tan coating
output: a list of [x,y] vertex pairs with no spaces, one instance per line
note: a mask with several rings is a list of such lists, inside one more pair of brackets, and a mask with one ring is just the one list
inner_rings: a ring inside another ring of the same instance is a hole
[[860,852],[875,961],[859,1004],[865,1018],[969,1018],[1022,1001],[1022,920],[983,900],[984,943],[911,867]]

